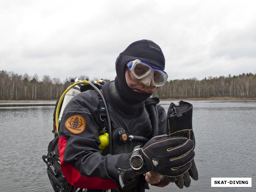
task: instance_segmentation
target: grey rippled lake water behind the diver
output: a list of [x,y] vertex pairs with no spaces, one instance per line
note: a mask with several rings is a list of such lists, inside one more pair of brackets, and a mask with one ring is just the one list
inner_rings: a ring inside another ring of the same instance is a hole
[[[161,101],[167,110],[170,102]],[[188,101],[193,104],[199,180],[162,191],[256,191],[256,101]],[[53,139],[55,102],[0,102],[0,191],[52,191],[42,155]],[[252,187],[211,187],[212,177],[251,177]]]

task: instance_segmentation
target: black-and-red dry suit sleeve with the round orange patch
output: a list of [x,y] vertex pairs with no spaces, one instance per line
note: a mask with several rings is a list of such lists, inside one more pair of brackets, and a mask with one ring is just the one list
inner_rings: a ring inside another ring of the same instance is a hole
[[131,154],[100,154],[98,106],[96,93],[79,93],[70,100],[60,121],[61,170],[67,181],[77,188],[118,188],[116,165],[120,161],[129,165]]

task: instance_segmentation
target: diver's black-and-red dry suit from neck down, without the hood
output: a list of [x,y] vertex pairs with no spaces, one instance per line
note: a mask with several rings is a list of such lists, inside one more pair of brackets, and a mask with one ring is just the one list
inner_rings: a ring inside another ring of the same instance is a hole
[[[139,179],[143,179],[140,178],[143,175],[138,175],[124,189],[120,188],[118,164],[127,164],[127,167],[129,167],[129,157],[132,154],[132,149],[137,145],[144,145],[145,142],[132,140],[123,145],[120,142],[118,144],[116,132],[124,129],[130,135],[150,139],[152,137],[152,126],[149,115],[144,102],[141,103],[141,106],[133,108],[133,114],[125,113],[117,108],[109,92],[109,86],[113,85],[114,82],[110,82],[102,87],[111,116],[112,154],[108,154],[108,148],[100,154],[100,148],[98,147],[100,145],[98,133],[102,123],[98,118],[100,103],[96,92],[89,90],[75,96],[68,103],[62,116],[59,135],[61,170],[68,182],[77,188],[101,190],[119,188],[120,191],[137,191]],[[160,105],[157,105],[157,109],[159,134],[165,134],[166,113]],[[74,134],[66,128],[68,122],[72,122],[72,120],[70,121],[72,116],[81,117],[80,123],[86,124],[84,131]]]

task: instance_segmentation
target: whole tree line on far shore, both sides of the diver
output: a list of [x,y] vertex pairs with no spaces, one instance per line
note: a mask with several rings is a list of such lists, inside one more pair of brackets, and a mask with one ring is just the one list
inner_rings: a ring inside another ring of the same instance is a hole
[[[44,75],[40,81],[37,74],[34,76],[18,75],[2,70],[0,71],[0,100],[57,100],[68,86],[73,84],[70,82],[71,78],[66,78],[61,82],[59,78]],[[85,75],[78,78],[89,79]],[[110,81],[109,79],[103,80]],[[256,98],[256,74],[210,76],[202,80],[196,78],[170,80],[164,86],[158,87],[152,96],[159,99]]]

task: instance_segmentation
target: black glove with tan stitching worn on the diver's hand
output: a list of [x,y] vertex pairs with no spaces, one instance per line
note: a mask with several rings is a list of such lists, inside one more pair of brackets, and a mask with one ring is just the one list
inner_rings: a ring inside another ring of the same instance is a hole
[[150,139],[139,151],[144,169],[168,177],[184,174],[195,156],[192,140],[160,135]]

